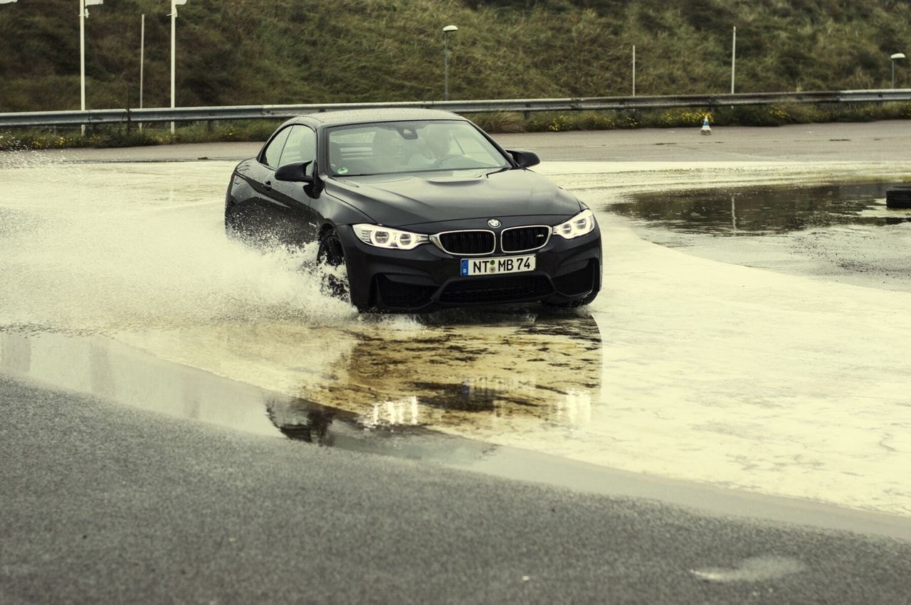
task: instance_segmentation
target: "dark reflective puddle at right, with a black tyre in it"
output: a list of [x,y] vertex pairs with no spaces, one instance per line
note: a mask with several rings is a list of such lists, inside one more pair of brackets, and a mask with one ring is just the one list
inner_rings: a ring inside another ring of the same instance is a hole
[[645,193],[609,205],[645,239],[748,267],[911,290],[911,210],[885,206],[898,182]]

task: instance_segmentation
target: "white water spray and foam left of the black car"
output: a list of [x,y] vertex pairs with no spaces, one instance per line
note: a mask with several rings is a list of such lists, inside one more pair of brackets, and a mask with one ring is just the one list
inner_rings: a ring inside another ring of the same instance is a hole
[[95,332],[296,318],[353,307],[320,291],[315,247],[252,249],[225,237],[227,162],[0,164],[0,327]]

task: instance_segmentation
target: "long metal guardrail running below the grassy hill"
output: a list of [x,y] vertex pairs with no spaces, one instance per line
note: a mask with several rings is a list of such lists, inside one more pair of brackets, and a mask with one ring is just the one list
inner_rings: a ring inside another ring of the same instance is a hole
[[169,107],[90,109],[0,114],[0,127],[78,126],[131,122],[199,122],[209,120],[287,119],[302,114],[341,109],[425,108],[456,114],[512,111],[587,111],[665,109],[670,107],[758,106],[776,103],[881,103],[911,101],[911,89],[841,90],[807,93],[757,93],[684,96],[598,96],[559,99],[500,99],[487,101],[404,101],[397,103],[336,103],[329,105],[256,105],[226,107]]

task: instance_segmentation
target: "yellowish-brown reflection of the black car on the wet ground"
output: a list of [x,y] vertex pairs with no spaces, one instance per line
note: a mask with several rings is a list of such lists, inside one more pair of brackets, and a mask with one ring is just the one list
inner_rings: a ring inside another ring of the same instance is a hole
[[403,436],[571,429],[585,425],[599,401],[601,338],[590,315],[358,337],[322,385],[320,404],[271,401],[282,433],[333,445],[338,422],[348,437],[352,427]]

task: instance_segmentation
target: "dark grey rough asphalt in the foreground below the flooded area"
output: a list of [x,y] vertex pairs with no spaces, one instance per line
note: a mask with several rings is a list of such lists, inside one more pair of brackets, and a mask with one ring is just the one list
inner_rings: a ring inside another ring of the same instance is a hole
[[908,602],[906,541],[0,400],[4,603]]

